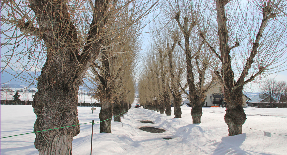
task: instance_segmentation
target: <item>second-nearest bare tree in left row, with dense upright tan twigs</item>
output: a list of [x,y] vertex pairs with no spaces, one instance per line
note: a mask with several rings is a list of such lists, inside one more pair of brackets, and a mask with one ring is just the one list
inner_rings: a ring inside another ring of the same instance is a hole
[[[135,7],[135,6],[132,6]],[[125,9],[125,7],[123,7]],[[128,6],[126,6],[128,9]],[[133,21],[133,15],[123,15],[121,23],[116,23],[112,29],[125,27],[126,22]],[[114,24],[114,23],[112,23]],[[112,115],[117,116],[122,113],[122,104],[128,103],[127,96],[131,90],[134,93],[132,73],[136,54],[140,49],[138,40],[140,22],[133,22],[133,27],[121,31],[117,35],[110,35],[104,41],[104,48],[101,49],[99,60],[95,60],[91,66],[89,79],[93,79],[95,85],[95,97],[101,102],[101,112],[99,114],[100,132],[111,133]],[[125,110],[128,110],[126,108]],[[114,120],[120,122],[120,116]]]

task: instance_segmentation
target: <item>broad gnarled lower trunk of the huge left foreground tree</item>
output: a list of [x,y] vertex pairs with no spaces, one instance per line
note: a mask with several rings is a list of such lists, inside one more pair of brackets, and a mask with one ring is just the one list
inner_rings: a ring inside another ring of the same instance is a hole
[[[41,84],[38,84],[41,85]],[[79,124],[78,89],[41,89],[35,93],[33,109],[37,116],[34,132]],[[80,126],[36,132],[34,142],[39,154],[71,154],[73,137],[80,133]]]

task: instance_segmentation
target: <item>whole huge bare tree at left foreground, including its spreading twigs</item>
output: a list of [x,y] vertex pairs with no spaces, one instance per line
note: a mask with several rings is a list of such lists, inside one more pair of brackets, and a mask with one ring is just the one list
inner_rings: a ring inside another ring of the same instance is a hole
[[[128,5],[137,1],[120,2]],[[27,4],[1,1],[1,37],[4,36],[1,49],[10,47],[12,53],[6,59],[1,57],[7,64],[1,68],[2,71],[15,65],[13,59],[18,66],[26,68],[30,65],[34,71],[44,63],[41,75],[36,78],[38,92],[34,95],[33,109],[37,120],[34,131],[79,124],[77,95],[83,76],[99,55],[105,37],[122,30],[107,31],[108,21],[114,21],[114,17],[125,12],[122,7],[115,8],[117,3],[109,0],[95,1],[94,4],[90,0],[31,0]],[[154,8],[151,4],[151,9],[141,11],[149,3],[138,2],[138,7],[129,10],[143,14],[126,23],[126,27],[132,26],[134,21],[142,19]],[[20,45],[22,50],[17,52]],[[25,60],[27,57],[28,61]],[[72,139],[78,135],[79,129],[79,126],[73,126],[37,132],[35,147],[39,154],[71,154]]]

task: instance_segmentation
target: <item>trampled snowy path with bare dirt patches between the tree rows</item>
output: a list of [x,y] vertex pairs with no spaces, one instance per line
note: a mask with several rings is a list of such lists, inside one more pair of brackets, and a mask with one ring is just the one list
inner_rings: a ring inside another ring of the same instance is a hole
[[[131,108],[129,113],[132,122],[131,126],[136,132],[134,133],[135,135],[131,137],[133,140],[133,148],[128,149],[126,154],[204,154],[195,146],[186,143],[182,137],[175,137],[175,134],[169,131],[163,133],[150,133],[139,130],[138,128],[142,126],[164,129],[157,123],[148,124],[140,122],[142,120],[154,121],[151,120],[151,118],[154,118],[151,117],[151,115],[153,115],[152,111],[143,108]],[[161,115],[165,116],[165,114]],[[172,139],[163,139],[166,137],[171,137]]]

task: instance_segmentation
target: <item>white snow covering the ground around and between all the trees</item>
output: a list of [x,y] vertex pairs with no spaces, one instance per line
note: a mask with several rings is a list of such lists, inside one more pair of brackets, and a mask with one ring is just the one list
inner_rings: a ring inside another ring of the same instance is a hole
[[[200,125],[191,124],[190,107],[181,108],[183,114],[180,119],[142,107],[131,108],[124,120],[121,117],[123,124],[112,122],[112,134],[99,133],[99,123],[94,124],[92,154],[287,154],[287,109],[244,108],[247,120],[243,124],[243,134],[228,137],[228,127],[224,122],[225,108],[203,108]],[[92,122],[92,119],[99,122],[99,111],[97,107],[92,114],[90,107],[78,107],[79,122]],[[1,105],[1,137],[33,132],[35,120],[31,106]],[[154,124],[140,123],[141,120],[150,120]],[[143,126],[167,131],[158,134],[138,129]],[[80,134],[73,139],[72,154],[90,154],[91,124],[80,125],[80,130]],[[271,137],[264,136],[263,131],[272,132]],[[172,139],[163,139],[166,137]],[[3,138],[1,155],[38,154],[34,139],[33,133]]]

